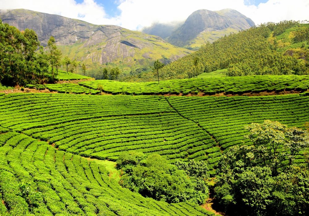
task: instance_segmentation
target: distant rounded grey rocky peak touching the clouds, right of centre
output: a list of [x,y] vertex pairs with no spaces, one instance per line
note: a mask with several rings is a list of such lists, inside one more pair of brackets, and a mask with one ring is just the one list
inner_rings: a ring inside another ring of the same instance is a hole
[[[202,44],[254,26],[254,22],[236,10],[197,10],[179,27],[173,24],[154,24],[143,32],[159,35],[171,44],[197,49]],[[171,31],[171,29],[174,29]]]

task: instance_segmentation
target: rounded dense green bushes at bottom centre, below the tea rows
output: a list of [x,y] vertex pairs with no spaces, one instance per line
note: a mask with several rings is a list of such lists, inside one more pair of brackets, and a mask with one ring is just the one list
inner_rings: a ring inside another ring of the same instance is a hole
[[[192,165],[191,162],[190,166],[197,166],[197,163]],[[167,202],[190,201],[202,204],[208,193],[205,180],[201,177],[188,178],[184,170],[168,164],[158,154],[145,157],[138,152],[124,152],[117,167],[124,172],[120,184],[144,197]]]

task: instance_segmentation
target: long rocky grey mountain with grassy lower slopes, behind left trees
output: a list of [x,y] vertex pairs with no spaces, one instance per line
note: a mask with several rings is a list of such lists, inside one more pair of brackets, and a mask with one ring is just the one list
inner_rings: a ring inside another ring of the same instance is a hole
[[31,10],[0,10],[3,23],[36,31],[41,45],[46,46],[50,36],[56,40],[63,56],[76,58],[91,67],[102,64],[144,67],[156,59],[165,63],[190,53],[177,48],[158,36],[113,25],[94,25],[60,15]]

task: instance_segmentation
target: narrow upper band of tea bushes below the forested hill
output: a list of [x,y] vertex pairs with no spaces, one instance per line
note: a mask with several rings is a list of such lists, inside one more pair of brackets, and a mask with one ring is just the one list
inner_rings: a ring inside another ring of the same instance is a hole
[[94,80],[80,82],[80,85],[92,89],[102,89],[113,94],[215,94],[215,93],[258,93],[271,91],[306,91],[309,76],[244,76],[209,77],[204,79],[178,79],[158,82],[117,82]]

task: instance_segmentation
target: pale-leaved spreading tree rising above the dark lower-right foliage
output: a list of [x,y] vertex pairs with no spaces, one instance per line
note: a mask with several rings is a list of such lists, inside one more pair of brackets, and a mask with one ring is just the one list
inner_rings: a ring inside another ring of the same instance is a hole
[[[260,152],[264,166],[269,166],[273,176],[283,167],[282,161],[289,160],[289,166],[302,149],[309,147],[309,134],[296,127],[288,128],[279,122],[265,120],[263,123],[252,123],[245,127],[250,139]],[[278,148],[283,147],[284,152]]]

